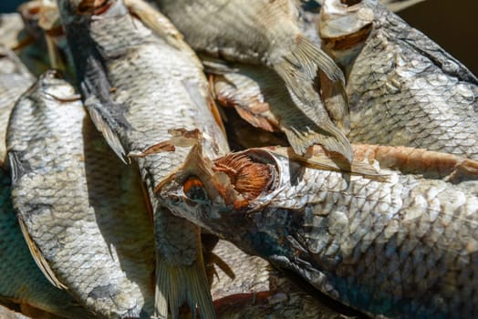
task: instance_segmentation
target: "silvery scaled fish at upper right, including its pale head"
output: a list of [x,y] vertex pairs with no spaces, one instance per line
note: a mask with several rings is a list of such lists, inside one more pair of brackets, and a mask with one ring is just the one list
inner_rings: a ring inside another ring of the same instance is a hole
[[348,77],[353,142],[478,159],[478,79],[376,0],[321,10],[322,45]]

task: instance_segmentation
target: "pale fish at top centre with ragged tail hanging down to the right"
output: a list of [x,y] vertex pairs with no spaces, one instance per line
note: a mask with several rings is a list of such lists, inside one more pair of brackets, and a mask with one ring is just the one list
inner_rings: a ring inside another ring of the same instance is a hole
[[[319,140],[327,149],[352,160],[344,135],[348,130],[348,100],[343,74],[319,46],[304,36],[295,1],[156,2],[193,49],[275,70],[290,95],[288,108],[303,113],[311,123],[290,129],[296,135],[296,151],[303,154]],[[335,90],[323,91],[320,96],[323,86]]]

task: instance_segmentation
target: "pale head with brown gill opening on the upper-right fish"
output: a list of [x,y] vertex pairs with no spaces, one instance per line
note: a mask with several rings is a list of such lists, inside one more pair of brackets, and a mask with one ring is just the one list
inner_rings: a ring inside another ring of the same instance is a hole
[[373,29],[374,13],[368,2],[325,0],[320,10],[322,46],[340,67],[353,64]]

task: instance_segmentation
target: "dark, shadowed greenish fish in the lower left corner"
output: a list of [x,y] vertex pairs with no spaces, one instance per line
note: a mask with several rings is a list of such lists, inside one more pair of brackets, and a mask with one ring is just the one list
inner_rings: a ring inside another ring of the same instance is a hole
[[[36,266],[16,221],[11,195],[10,177],[0,169],[0,299],[7,303],[27,304],[62,317],[93,318],[93,314],[66,291],[49,283]],[[0,313],[0,317],[6,315]]]

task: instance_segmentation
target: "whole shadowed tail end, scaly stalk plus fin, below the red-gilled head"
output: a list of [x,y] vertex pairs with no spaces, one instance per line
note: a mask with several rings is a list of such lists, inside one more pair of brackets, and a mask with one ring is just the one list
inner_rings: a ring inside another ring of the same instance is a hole
[[[192,314],[215,318],[213,298],[203,261],[201,228],[161,208],[156,212],[156,315],[178,318],[188,304]],[[197,310],[196,310],[197,309]],[[196,318],[194,316],[193,318]]]

